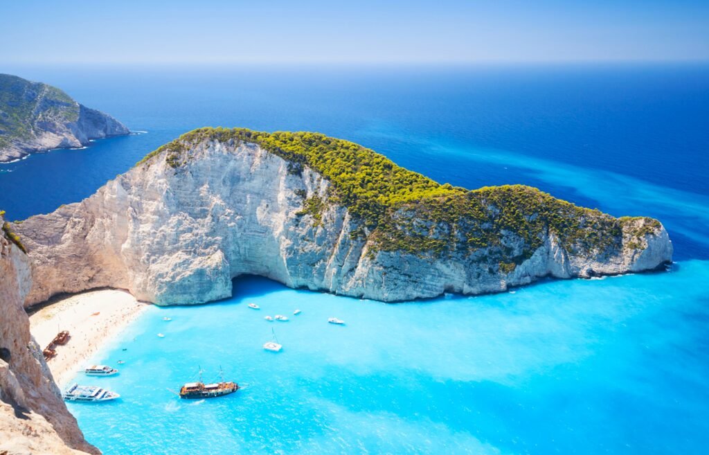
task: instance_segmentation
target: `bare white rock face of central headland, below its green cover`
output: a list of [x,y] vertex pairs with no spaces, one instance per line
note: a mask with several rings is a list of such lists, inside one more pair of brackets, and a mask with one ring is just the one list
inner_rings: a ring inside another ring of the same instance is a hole
[[[231,280],[241,274],[394,302],[504,291],[544,276],[657,269],[671,261],[667,232],[646,218],[623,223],[618,247],[591,255],[567,251],[546,230],[542,246],[510,271],[486,261],[484,249],[444,256],[376,249],[362,224],[333,202],[330,181],[307,165],[290,172],[285,159],[240,141],[190,145],[189,160],[179,167],[162,158],[80,203],[15,226],[33,259],[27,305],[103,286],[157,304],[204,303],[230,296]],[[320,220],[303,214],[304,199],[313,195],[325,202]],[[353,234],[362,230],[365,235]],[[503,234],[510,251],[523,247],[520,238]]]

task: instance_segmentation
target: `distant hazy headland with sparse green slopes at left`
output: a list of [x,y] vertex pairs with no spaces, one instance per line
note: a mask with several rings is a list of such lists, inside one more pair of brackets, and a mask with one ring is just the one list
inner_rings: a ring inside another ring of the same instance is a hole
[[115,118],[77,103],[60,89],[0,74],[0,162],[128,133]]

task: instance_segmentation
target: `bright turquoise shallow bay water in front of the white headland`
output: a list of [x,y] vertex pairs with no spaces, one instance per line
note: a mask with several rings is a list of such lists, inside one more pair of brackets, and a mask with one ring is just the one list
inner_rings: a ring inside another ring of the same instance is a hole
[[[105,454],[697,453],[708,273],[691,261],[398,305],[238,279],[229,300],[150,308],[96,357],[125,360],[94,380],[123,398],[69,409]],[[291,320],[263,319],[277,313]],[[262,349],[272,327],[279,354]],[[198,366],[245,387],[180,400],[168,389]]]

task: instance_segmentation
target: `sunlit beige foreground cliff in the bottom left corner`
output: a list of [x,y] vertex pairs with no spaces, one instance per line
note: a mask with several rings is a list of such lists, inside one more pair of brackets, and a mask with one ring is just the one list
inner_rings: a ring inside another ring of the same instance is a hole
[[30,335],[22,303],[31,281],[28,257],[0,232],[0,454],[98,454]]

